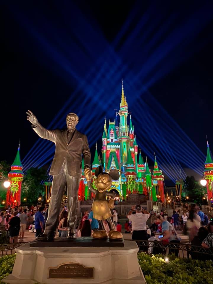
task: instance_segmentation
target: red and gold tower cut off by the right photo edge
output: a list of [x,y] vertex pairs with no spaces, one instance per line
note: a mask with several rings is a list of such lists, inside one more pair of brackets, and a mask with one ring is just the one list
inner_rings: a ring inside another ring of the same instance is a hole
[[204,169],[204,179],[207,181],[206,188],[207,188],[207,196],[208,200],[213,199],[213,159],[212,154],[209,148],[209,143],[207,140],[207,154],[206,154],[206,161],[205,161],[205,169]]

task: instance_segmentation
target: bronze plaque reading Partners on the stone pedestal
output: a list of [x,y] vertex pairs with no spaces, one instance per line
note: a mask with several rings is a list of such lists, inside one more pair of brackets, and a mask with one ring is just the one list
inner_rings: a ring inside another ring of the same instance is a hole
[[93,278],[93,268],[79,263],[64,263],[49,268],[49,278]]

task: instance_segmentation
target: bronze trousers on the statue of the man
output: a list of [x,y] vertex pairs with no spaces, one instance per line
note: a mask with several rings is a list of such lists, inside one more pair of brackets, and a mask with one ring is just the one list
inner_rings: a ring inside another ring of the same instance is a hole
[[64,193],[67,186],[67,211],[68,227],[75,229],[78,211],[78,188],[80,178],[71,177],[67,171],[67,162],[62,165],[60,172],[53,176],[51,198],[49,203],[48,217],[46,220],[45,235],[54,236],[59,222],[59,212]]

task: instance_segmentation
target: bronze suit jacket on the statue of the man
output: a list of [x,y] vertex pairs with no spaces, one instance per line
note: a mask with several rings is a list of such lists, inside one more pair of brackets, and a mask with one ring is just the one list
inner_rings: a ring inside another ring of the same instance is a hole
[[68,143],[67,130],[48,130],[40,123],[33,126],[33,130],[41,137],[55,143],[55,156],[50,168],[50,175],[57,175],[62,168],[64,160],[67,160],[67,170],[70,176],[81,177],[82,154],[84,165],[90,167],[90,149],[85,134],[77,129]]

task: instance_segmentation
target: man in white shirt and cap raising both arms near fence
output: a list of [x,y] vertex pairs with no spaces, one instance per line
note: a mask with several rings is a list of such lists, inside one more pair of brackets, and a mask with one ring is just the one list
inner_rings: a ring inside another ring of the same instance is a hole
[[[135,214],[132,214],[135,210]],[[132,222],[132,240],[148,240],[146,232],[146,221],[149,219],[149,212],[141,208],[141,205],[132,206],[127,218]]]

